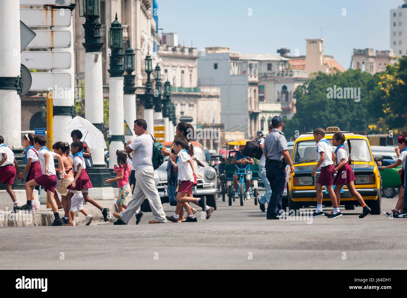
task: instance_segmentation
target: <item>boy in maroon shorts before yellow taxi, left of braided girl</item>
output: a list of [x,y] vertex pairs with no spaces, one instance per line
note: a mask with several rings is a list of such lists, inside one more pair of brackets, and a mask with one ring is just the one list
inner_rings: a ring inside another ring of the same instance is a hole
[[315,165],[314,170],[311,175],[316,176],[317,170],[321,167],[321,172],[315,186],[317,191],[317,210],[313,213],[313,217],[324,215],[322,210],[322,185],[325,185],[326,190],[328,191],[329,197],[333,205],[333,213],[328,218],[338,218],[342,216],[341,211],[339,211],[339,206],[337,204],[335,192],[333,191],[333,176],[335,173],[335,166],[333,165],[333,150],[329,141],[325,139],[325,130],[324,128],[317,128],[313,132],[314,141],[317,143],[317,152],[319,155],[319,161]]

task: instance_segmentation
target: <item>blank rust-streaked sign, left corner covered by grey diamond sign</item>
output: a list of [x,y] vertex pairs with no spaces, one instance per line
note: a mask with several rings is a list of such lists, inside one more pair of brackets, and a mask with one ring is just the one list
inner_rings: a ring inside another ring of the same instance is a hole
[[37,35],[27,48],[69,48],[71,33],[68,30],[34,30]]

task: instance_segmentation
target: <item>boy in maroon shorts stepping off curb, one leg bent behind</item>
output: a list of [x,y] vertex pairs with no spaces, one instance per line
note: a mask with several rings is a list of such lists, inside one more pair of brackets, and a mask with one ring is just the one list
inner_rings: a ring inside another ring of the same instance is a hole
[[58,160],[59,174],[64,176],[63,161],[61,155],[51,152],[46,148],[46,138],[43,135],[37,135],[34,137],[34,148],[38,152],[39,164],[41,165],[42,175],[35,177],[33,180],[28,181],[24,188],[26,190],[27,203],[23,206],[15,207],[16,210],[29,210],[32,211],[32,198],[34,186],[44,186],[47,192],[47,200],[51,204],[52,211],[55,216],[55,220],[52,223],[53,226],[62,226],[63,222],[59,217],[58,206],[54,200],[55,185],[57,184],[57,173],[55,171],[54,158]]

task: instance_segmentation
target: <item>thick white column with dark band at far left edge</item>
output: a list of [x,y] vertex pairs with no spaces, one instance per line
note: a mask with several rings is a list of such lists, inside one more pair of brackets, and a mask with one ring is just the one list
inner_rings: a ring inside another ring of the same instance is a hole
[[[1,1],[0,76],[20,76],[20,2]],[[21,98],[16,90],[0,89],[0,131],[6,146],[21,147]]]

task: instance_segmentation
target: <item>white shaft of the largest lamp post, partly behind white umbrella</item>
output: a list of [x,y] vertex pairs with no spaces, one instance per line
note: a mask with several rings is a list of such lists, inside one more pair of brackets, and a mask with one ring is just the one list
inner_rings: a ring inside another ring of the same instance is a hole
[[[96,55],[98,55],[98,59],[95,62]],[[103,123],[101,52],[85,52],[85,118],[90,123]],[[105,166],[104,150],[103,148],[90,149],[94,165]]]

